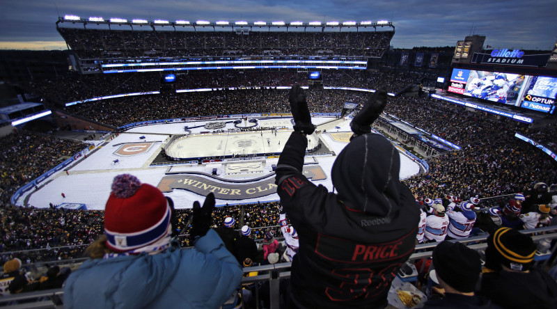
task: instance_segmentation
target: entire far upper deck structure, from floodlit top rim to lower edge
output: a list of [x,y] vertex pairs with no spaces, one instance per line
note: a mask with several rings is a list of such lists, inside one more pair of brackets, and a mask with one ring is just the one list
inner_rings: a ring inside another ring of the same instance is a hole
[[[83,28],[74,28],[77,26],[76,23],[83,24]],[[308,61],[311,60],[310,57],[320,57],[320,60],[337,61],[337,65],[338,61],[359,61],[359,64],[363,64],[361,68],[365,68],[366,58],[383,56],[389,49],[395,33],[390,22],[366,22],[363,26],[338,23],[336,26],[329,23],[313,26],[311,23],[299,26],[288,26],[284,23],[227,26],[218,23],[222,22],[203,25],[171,23],[164,27],[155,22],[139,28],[134,22],[127,21],[68,21],[60,18],[56,22],[56,28],[83,64],[89,60],[89,63],[97,61],[102,65],[130,63],[130,59],[133,58],[140,59],[138,61],[141,63],[165,58],[164,61],[168,63],[192,60],[244,60],[246,57],[252,57],[249,60],[253,60],[253,57],[256,60],[288,57],[283,60]],[[104,29],[99,29],[102,26]],[[217,63],[219,64],[223,65]],[[324,64],[334,65],[332,62]],[[355,63],[350,65],[357,66]],[[350,65],[346,65],[346,68],[352,69]],[[94,65],[88,67],[93,68]]]

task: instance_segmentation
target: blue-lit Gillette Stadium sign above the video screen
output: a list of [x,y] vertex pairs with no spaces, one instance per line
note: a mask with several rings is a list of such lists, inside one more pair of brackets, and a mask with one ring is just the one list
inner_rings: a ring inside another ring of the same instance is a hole
[[475,53],[472,62],[538,67],[546,65],[549,56],[551,54],[525,55],[520,49],[494,49],[490,54]]

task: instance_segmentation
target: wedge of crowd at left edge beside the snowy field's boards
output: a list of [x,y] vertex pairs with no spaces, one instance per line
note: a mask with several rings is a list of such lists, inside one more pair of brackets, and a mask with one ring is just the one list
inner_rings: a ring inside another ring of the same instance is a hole
[[22,130],[0,138],[0,143],[1,205],[10,203],[17,189],[88,146],[86,143]]

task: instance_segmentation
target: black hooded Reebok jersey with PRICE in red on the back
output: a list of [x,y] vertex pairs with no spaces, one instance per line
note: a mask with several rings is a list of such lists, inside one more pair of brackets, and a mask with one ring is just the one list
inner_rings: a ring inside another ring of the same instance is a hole
[[298,231],[290,299],[300,308],[382,308],[414,252],[419,208],[399,180],[398,151],[383,136],[354,138],[338,154],[338,195],[303,174],[307,139],[293,132],[276,166],[281,204]]

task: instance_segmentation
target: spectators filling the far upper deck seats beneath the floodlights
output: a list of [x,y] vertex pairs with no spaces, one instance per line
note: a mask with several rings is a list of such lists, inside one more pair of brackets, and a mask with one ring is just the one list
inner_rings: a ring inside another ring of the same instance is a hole
[[380,57],[393,31],[132,31],[58,28],[80,58],[337,55]]

